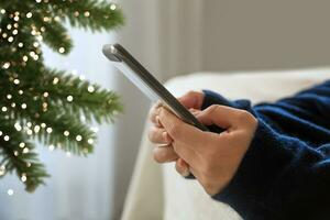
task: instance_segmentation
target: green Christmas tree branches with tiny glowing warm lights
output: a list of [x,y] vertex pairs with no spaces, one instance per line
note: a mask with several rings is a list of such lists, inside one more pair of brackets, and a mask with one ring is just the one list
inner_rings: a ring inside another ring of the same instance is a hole
[[36,142],[77,155],[92,152],[89,124],[112,122],[119,97],[44,64],[41,45],[68,54],[65,23],[91,31],[123,24],[117,4],[98,0],[0,0],[0,177],[15,173],[28,191],[48,176]]

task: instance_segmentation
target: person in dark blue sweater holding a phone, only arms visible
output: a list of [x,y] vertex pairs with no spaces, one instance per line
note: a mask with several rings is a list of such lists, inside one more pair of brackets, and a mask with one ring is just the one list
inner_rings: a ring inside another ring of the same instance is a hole
[[148,139],[156,162],[174,162],[243,219],[330,219],[330,80],[273,103],[209,90],[178,100],[222,132],[200,131],[155,105]]

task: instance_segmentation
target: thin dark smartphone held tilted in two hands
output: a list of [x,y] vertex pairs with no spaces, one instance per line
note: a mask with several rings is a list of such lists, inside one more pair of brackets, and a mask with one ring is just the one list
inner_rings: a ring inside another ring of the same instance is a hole
[[107,44],[103,54],[152,101],[161,100],[164,107],[202,131],[209,131],[190,113],[151,73],[148,73],[123,46]]

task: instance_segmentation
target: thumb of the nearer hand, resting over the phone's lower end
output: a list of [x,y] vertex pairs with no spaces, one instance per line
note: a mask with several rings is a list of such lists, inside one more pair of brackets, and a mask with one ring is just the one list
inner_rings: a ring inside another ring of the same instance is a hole
[[212,105],[209,108],[201,111],[196,118],[202,124],[212,125],[216,124],[221,129],[229,129],[233,127],[234,119],[238,114],[237,109],[227,106]]

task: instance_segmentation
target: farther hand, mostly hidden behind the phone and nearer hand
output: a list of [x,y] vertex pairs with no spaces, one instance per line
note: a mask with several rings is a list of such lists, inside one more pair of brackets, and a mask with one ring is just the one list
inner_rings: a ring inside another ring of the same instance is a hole
[[[178,98],[178,101],[194,114],[197,114],[200,111],[204,98],[205,95],[201,91],[189,91],[185,96]],[[150,111],[150,120],[153,125],[148,130],[148,139],[156,144],[156,147],[153,151],[154,160],[158,163],[176,162],[175,167],[177,172],[184,176],[188,176],[189,165],[175,153],[172,146],[173,140],[157,119],[161,106],[162,103],[158,102],[154,105]]]

